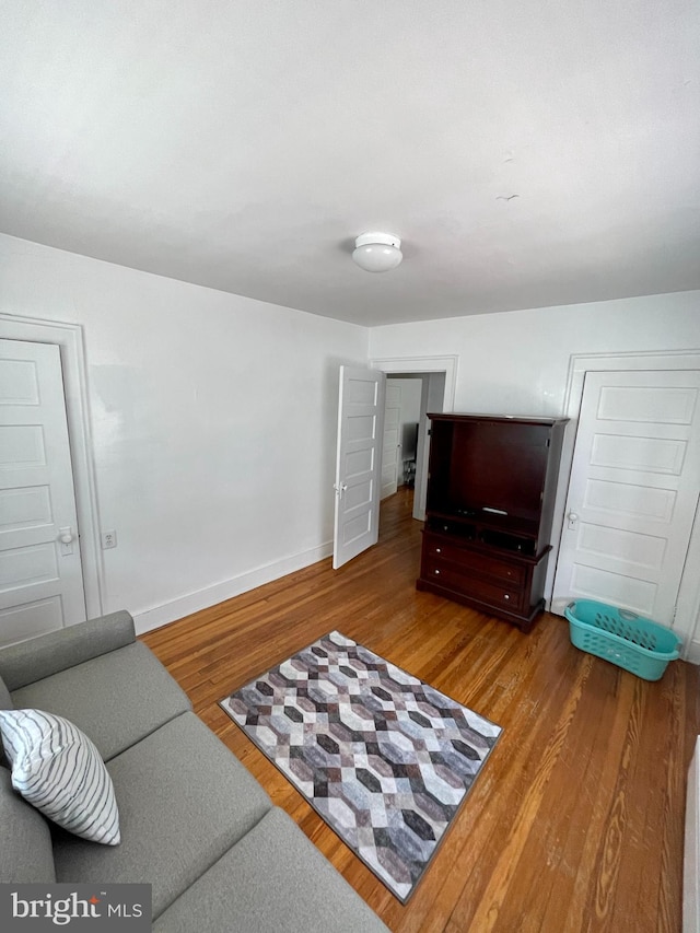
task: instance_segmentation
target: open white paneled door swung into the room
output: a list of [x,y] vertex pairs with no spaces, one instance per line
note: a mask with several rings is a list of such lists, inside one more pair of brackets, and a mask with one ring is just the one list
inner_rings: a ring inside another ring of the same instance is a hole
[[375,545],[386,376],[340,366],[334,568]]

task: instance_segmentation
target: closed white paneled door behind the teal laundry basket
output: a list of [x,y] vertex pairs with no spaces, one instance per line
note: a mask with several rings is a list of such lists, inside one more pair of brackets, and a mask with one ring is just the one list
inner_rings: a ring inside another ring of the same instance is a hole
[[552,611],[572,598],[674,621],[700,494],[700,372],[587,373]]

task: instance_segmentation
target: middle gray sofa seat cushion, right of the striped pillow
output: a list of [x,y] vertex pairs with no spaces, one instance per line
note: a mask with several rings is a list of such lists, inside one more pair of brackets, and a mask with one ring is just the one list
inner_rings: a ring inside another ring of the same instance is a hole
[[166,723],[107,768],[121,844],[56,833],[56,876],[73,884],[151,884],[154,918],[271,808],[257,781],[194,713]]

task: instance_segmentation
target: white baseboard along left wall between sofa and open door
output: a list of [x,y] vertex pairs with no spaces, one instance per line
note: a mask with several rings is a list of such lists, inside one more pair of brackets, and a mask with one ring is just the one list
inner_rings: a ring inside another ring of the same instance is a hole
[[264,583],[279,580],[280,576],[285,576],[288,573],[293,573],[295,570],[302,570],[304,567],[324,560],[331,553],[332,541],[326,541],[316,548],[257,567],[255,570],[215,583],[213,586],[207,586],[205,590],[197,590],[195,593],[178,596],[161,606],[153,606],[143,611],[133,611],[137,634],[143,634],[189,616],[191,613],[198,613],[200,609],[215,606],[217,603],[223,603],[233,596],[240,596],[241,593],[247,593],[248,590],[255,590],[256,586],[262,586]]

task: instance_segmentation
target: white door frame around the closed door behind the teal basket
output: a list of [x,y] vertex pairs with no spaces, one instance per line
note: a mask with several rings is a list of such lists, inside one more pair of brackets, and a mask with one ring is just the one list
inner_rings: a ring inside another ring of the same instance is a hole
[[[569,373],[567,377],[567,389],[564,395],[563,415],[569,418],[567,432],[564,434],[561,452],[561,466],[559,481],[557,485],[557,497],[555,500],[555,514],[552,524],[552,552],[550,555],[545,593],[547,608],[551,605],[551,594],[559,559],[559,548],[563,534],[564,511],[569,495],[569,479],[573,466],[573,453],[583,401],[583,386],[588,372],[605,371],[639,371],[639,370],[700,370],[700,350],[667,350],[664,352],[629,352],[629,353],[591,353],[572,354],[569,360]],[[696,521],[690,534],[688,559],[684,574],[680,579],[678,590],[678,602],[676,604],[677,618],[685,619],[679,626],[679,634],[684,637],[685,649],[682,656],[687,661],[700,664],[700,580],[693,579],[690,567],[693,565],[691,558],[700,558],[700,515],[696,514]]]

